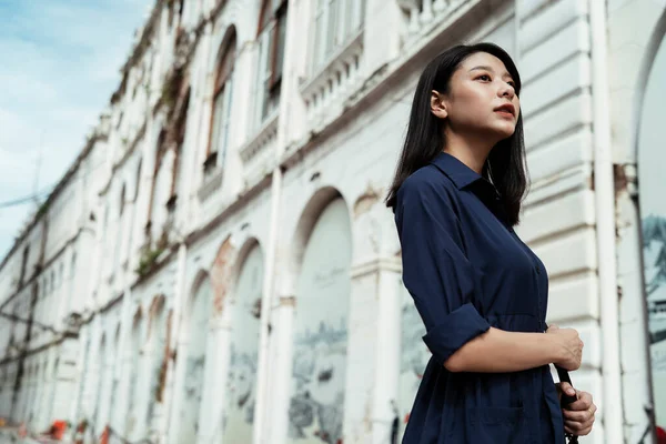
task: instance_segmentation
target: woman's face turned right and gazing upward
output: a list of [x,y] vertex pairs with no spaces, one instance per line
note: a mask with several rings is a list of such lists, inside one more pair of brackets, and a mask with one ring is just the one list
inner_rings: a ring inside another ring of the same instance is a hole
[[448,93],[441,97],[448,130],[460,135],[483,135],[496,141],[511,137],[521,112],[514,81],[495,56],[476,52],[467,57],[451,78]]

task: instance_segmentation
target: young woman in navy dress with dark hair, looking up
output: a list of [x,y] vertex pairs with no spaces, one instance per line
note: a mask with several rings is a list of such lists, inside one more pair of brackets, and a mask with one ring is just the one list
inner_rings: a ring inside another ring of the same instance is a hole
[[548,364],[577,370],[583,342],[546,327],[546,270],[513,230],[527,188],[519,92],[490,43],[443,52],[416,87],[386,198],[433,354],[404,444],[561,444],[594,423],[588,393],[562,384],[578,401],[559,407]]

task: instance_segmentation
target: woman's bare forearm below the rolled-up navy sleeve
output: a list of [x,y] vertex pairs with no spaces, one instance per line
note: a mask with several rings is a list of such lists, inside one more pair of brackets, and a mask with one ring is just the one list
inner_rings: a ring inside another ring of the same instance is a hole
[[451,372],[519,372],[559,360],[561,347],[545,333],[516,333],[491,327],[444,363]]

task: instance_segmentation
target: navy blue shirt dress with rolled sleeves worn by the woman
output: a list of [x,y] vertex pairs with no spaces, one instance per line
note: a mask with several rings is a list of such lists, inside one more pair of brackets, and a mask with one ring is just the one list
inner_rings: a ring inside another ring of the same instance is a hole
[[507,223],[494,186],[441,153],[396,198],[403,282],[433,354],[403,444],[564,443],[548,365],[513,373],[451,373],[443,365],[491,326],[545,330],[546,270]]

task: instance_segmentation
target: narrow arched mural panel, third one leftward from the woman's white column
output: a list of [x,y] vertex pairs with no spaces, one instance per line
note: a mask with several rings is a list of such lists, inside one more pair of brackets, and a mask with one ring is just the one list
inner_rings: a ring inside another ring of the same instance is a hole
[[183,380],[183,398],[179,443],[195,443],[199,432],[199,412],[203,395],[205,375],[205,351],[209,335],[209,313],[211,311],[211,282],[204,279],[200,284],[190,311],[189,337]]

